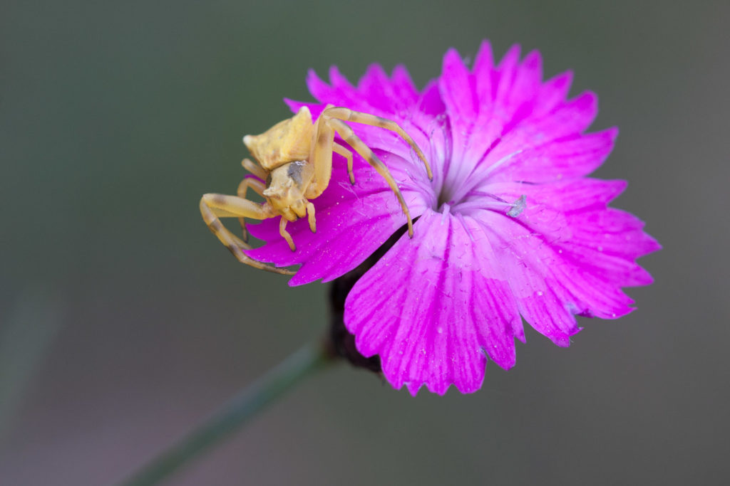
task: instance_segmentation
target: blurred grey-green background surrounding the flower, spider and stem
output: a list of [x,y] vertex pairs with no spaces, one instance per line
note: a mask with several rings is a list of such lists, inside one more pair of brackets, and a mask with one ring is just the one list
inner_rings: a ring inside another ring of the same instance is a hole
[[309,100],[448,47],[539,49],[575,70],[597,175],[664,250],[638,310],[536,332],[481,391],[413,399],[345,365],[297,388],[174,485],[726,484],[727,2],[4,1],[0,7],[0,484],[114,482],[327,321],[326,286],[237,262],[199,216],[241,143]]

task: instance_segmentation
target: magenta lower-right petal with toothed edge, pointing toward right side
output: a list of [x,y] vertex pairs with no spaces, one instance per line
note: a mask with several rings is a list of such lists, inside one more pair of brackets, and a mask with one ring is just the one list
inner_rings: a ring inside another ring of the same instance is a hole
[[[518,218],[493,211],[475,216],[499,254],[523,318],[556,344],[568,345],[578,330],[573,315],[617,318],[631,312],[633,301],[621,286],[645,281],[633,260],[656,249],[641,225],[612,209],[562,213],[529,195],[527,200]],[[604,247],[604,240],[618,243]],[[588,251],[607,256],[586,259]]]

